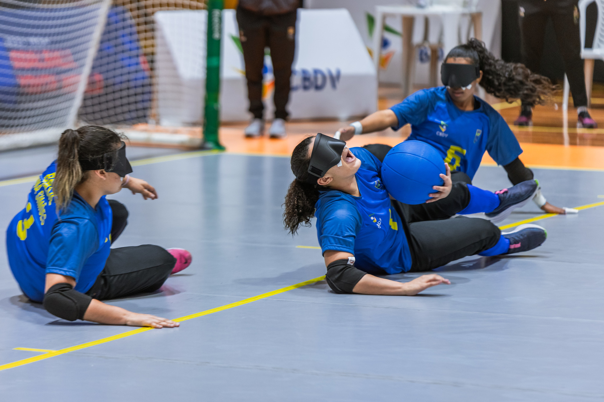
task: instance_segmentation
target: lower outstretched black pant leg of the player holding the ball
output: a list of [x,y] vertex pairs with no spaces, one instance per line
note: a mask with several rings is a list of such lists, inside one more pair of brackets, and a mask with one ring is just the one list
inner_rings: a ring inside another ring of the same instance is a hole
[[[487,251],[498,245],[500,237],[498,227],[480,218],[458,216],[445,221],[414,222],[409,225],[407,239],[411,271],[429,271]],[[503,248],[507,251],[507,247]]]

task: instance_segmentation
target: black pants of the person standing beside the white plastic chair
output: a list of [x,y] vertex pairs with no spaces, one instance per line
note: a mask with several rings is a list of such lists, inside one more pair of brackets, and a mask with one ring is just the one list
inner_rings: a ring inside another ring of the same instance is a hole
[[520,17],[522,32],[522,60],[530,71],[539,73],[545,25],[548,19],[556,31],[564,70],[568,77],[574,107],[587,106],[585,90],[585,72],[581,59],[581,42],[579,37],[579,21],[575,19],[574,10],[577,1],[573,0],[521,0],[520,7],[524,8],[524,17]]

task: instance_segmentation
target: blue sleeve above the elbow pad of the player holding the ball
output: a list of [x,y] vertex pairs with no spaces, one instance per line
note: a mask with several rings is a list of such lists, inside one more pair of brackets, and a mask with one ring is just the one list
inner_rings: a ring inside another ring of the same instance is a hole
[[327,250],[355,254],[356,231],[361,228],[361,214],[356,206],[345,199],[338,199],[320,210],[321,253]]

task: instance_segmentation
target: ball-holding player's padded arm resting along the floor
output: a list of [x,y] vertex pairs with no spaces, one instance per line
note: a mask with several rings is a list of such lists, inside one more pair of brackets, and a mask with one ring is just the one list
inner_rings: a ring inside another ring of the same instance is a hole
[[[428,287],[437,284],[451,284],[437,274],[422,275],[410,282],[397,282],[389,279],[378,278],[371,274],[364,274],[352,265],[345,262],[350,253],[344,251],[327,250],[324,254],[325,265],[327,266],[327,283],[338,293],[358,293],[364,295],[387,295],[387,296],[414,296],[419,292],[428,289]],[[336,270],[336,271],[332,271]],[[335,272],[335,273],[332,273]],[[361,277],[360,280],[358,278]],[[341,291],[350,284],[350,280],[356,281],[355,286],[349,291]],[[335,288],[335,289],[334,289]]]

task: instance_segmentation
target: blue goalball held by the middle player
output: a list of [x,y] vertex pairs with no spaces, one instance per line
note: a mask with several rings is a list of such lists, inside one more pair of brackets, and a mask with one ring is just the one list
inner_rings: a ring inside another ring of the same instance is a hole
[[388,151],[382,162],[382,181],[386,190],[403,204],[422,204],[442,186],[440,174],[445,163],[432,145],[422,141],[404,141]]

